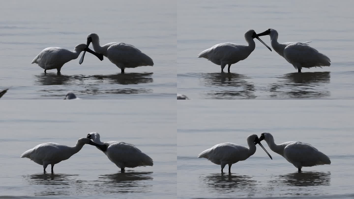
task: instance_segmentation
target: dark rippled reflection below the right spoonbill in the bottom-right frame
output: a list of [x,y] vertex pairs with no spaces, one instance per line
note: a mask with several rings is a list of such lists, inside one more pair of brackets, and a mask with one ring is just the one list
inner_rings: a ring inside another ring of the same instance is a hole
[[271,183],[288,184],[290,186],[329,186],[331,172],[294,172],[275,176]]

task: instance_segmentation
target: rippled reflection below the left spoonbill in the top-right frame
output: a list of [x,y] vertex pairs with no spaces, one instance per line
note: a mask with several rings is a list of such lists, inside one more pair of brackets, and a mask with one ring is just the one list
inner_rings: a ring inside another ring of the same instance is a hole
[[255,86],[246,81],[251,79],[246,75],[237,73],[202,73],[202,81],[207,87],[216,90],[207,91],[207,95],[211,98],[222,99],[253,99],[255,95]]

